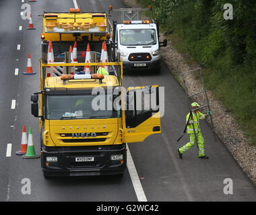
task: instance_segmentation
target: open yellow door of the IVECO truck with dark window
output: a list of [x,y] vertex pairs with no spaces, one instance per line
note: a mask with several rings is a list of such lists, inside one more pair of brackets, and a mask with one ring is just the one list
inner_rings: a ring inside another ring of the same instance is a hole
[[161,132],[157,85],[130,87],[127,91],[126,109],[123,116],[124,142],[143,142],[151,134]]

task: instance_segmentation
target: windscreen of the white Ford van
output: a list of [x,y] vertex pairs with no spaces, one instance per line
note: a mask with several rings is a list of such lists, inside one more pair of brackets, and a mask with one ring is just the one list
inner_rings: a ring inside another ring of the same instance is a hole
[[156,30],[154,29],[120,30],[120,44],[123,46],[155,45]]

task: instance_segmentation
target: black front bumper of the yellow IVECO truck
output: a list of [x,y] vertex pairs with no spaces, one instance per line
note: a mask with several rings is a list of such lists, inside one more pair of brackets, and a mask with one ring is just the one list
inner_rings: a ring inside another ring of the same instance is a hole
[[[123,155],[123,162],[111,161],[111,155]],[[57,157],[48,162],[46,157]],[[75,157],[94,157],[94,161],[76,162]],[[119,175],[126,168],[126,144],[110,146],[43,147],[41,166],[44,176]]]

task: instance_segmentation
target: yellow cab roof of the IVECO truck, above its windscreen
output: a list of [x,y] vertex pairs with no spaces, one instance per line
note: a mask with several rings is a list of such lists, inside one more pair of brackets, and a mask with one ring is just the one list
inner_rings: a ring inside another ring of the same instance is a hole
[[98,79],[61,80],[61,77],[47,77],[45,88],[55,89],[92,89],[94,87],[116,87],[119,81],[115,75],[105,75],[102,83]]

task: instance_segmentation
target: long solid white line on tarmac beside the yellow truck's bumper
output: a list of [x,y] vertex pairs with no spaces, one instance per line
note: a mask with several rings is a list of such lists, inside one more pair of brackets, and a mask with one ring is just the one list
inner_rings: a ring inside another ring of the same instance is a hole
[[141,183],[139,181],[139,176],[137,174],[137,170],[133,163],[133,159],[131,157],[131,153],[130,153],[128,146],[127,146],[127,168],[128,168],[128,171],[129,171],[129,174],[131,177],[131,182],[133,183],[133,187],[135,189],[137,200],[139,202],[148,202],[148,200],[145,196],[145,193],[143,191],[143,188],[141,186]]

